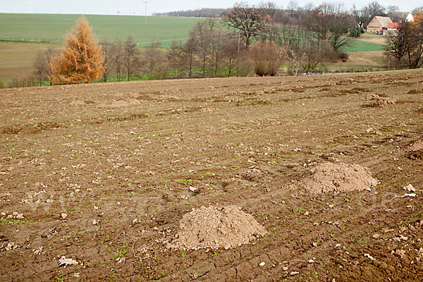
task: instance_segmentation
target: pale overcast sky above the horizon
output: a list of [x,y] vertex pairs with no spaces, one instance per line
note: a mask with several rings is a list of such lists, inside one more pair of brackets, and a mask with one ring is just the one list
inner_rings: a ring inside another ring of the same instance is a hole
[[[145,0],[0,0],[1,13],[78,13],[78,14],[117,14],[144,15]],[[195,8],[229,8],[238,2],[236,0],[147,0],[147,15],[168,11],[189,10]],[[274,1],[278,6],[286,7],[289,0]],[[349,9],[353,3],[357,8],[367,5],[372,0],[341,1]],[[259,1],[248,1],[249,4],[259,4]],[[321,1],[297,0],[299,6],[307,2],[321,4]],[[334,1],[326,1],[334,2]],[[379,1],[384,6],[395,5],[400,11],[412,11],[417,6],[422,6],[422,0],[384,0]]]

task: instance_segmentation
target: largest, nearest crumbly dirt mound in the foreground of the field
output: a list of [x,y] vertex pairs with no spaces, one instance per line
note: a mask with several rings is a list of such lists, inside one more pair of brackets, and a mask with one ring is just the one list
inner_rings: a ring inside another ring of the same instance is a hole
[[266,233],[263,226],[240,207],[200,207],[183,216],[176,239],[168,247],[182,250],[223,247],[228,250]]

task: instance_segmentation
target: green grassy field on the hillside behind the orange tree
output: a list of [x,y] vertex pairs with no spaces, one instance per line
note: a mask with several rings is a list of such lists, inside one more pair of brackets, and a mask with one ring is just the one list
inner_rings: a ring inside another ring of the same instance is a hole
[[[0,13],[0,40],[63,41],[66,32],[75,25],[80,15],[12,14]],[[167,47],[172,39],[186,38],[195,23],[204,18],[145,17],[143,16],[85,16],[100,41],[125,39],[132,34],[135,42],[152,40]]]

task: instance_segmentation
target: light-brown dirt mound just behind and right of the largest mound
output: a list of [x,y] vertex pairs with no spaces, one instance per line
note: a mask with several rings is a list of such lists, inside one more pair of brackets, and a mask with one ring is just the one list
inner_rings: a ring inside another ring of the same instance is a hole
[[301,186],[309,192],[325,193],[364,190],[378,183],[364,166],[324,163],[313,168],[312,176],[303,180]]

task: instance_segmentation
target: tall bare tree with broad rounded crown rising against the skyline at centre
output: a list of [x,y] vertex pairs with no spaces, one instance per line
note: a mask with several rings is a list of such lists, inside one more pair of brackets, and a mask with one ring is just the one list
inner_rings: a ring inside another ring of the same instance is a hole
[[250,7],[245,2],[237,3],[226,13],[223,21],[235,29],[235,32],[245,39],[245,49],[248,49],[251,38],[259,35],[265,28],[266,18],[262,8]]

